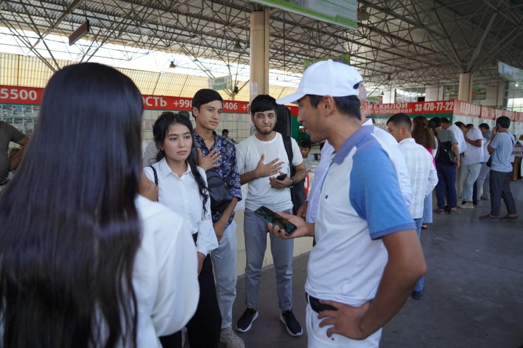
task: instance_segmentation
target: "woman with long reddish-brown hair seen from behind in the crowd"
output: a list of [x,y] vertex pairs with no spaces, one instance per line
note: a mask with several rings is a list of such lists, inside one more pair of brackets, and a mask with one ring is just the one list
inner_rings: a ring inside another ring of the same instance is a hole
[[[438,149],[438,140],[429,126],[428,119],[425,116],[416,116],[412,119],[412,137],[421,146],[433,155],[433,164],[436,167],[434,157]],[[432,223],[432,193],[425,197],[423,202],[423,222],[422,229],[428,229],[429,223]]]

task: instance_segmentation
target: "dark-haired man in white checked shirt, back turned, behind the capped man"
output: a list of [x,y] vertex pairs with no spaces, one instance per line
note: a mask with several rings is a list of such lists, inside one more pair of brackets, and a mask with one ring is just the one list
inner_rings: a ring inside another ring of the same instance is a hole
[[[412,204],[408,211],[416,223],[416,230],[418,237],[420,237],[423,222],[423,203],[425,197],[431,195],[432,190],[436,187],[438,173],[432,162],[432,155],[423,146],[417,144],[412,137],[412,121],[407,114],[393,115],[387,121],[387,128],[405,152],[408,175],[411,177],[412,184]],[[424,277],[422,277],[414,285],[411,296],[414,299],[421,299],[424,293]]]

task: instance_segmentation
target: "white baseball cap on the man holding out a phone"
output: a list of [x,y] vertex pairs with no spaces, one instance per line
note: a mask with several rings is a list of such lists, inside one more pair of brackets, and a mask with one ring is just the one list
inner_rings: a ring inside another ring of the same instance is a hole
[[276,102],[278,104],[296,104],[306,94],[330,95],[331,97],[358,95],[358,87],[361,82],[363,82],[363,78],[356,69],[328,59],[309,66],[303,73],[298,90]]

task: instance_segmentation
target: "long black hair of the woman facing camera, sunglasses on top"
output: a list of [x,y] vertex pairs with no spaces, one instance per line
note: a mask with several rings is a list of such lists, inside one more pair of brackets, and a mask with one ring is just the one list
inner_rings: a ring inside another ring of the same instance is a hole
[[[194,145],[195,131],[192,129],[192,124],[189,121],[188,115],[181,113],[177,114],[170,111],[163,112],[160,117],[156,119],[156,122],[153,125],[154,142],[159,149],[158,153],[156,154],[156,162],[160,162],[165,157],[165,151],[163,150],[162,145],[165,141],[165,137],[167,136],[167,132],[169,131],[169,127],[174,124],[184,125],[189,128],[192,139],[191,153],[196,151],[196,147]],[[207,186],[205,185],[205,182],[203,181],[203,178],[197,169],[198,156],[189,155],[187,158],[187,163],[191,169],[192,176],[194,176],[196,179],[196,184],[198,184],[198,189],[200,190],[200,195],[202,198],[203,213],[206,214],[207,208],[205,206],[207,204],[207,199],[209,199],[209,195],[207,193]]]

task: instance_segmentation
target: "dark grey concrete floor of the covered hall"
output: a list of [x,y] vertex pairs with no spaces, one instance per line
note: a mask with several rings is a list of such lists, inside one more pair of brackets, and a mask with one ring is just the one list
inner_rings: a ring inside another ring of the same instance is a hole
[[[422,230],[426,293],[420,301],[409,298],[384,327],[382,347],[523,345],[523,180],[510,187],[518,221],[480,221],[490,212],[490,201],[482,200],[475,209],[460,209],[459,215],[435,215],[434,223]],[[506,214],[503,203],[501,214]],[[293,311],[303,328],[307,261],[305,254],[294,258],[293,265]],[[243,276],[237,293],[234,323],[245,309]],[[238,334],[247,348],[307,346],[306,332],[291,337],[279,321],[272,267],[261,277],[258,310],[252,329]]]

